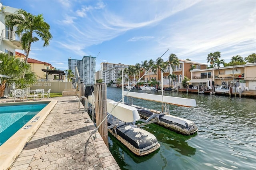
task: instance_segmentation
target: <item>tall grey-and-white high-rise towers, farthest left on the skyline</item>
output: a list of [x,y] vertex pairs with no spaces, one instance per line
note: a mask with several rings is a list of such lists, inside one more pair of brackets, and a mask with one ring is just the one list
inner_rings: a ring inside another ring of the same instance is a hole
[[84,84],[94,84],[95,83],[95,67],[96,67],[96,57],[85,56],[80,59],[68,59],[68,69],[76,73],[76,67],[80,75],[80,80]]

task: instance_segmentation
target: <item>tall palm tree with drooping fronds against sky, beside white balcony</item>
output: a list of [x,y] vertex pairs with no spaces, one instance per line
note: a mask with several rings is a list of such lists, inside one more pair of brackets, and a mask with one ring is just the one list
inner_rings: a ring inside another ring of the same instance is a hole
[[40,38],[44,41],[43,47],[46,47],[52,39],[52,34],[49,31],[50,25],[44,21],[42,14],[34,16],[19,9],[16,14],[8,14],[5,17],[5,24],[15,28],[15,33],[20,37],[21,48],[26,53],[25,63],[28,61],[31,43]]

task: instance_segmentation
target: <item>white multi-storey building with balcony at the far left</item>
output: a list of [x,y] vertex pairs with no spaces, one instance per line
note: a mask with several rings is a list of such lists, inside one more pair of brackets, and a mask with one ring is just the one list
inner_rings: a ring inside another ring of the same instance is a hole
[[3,6],[0,3],[0,52],[15,55],[15,49],[21,49],[20,38],[18,38],[13,30],[5,25],[5,16],[14,14],[18,9],[9,6]]

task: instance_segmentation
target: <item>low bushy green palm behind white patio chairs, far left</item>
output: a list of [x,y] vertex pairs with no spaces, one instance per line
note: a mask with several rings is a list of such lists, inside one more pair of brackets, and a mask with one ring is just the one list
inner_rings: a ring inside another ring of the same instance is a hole
[[[4,96],[6,84],[14,83],[18,89],[24,89],[36,82],[36,75],[32,73],[28,63],[21,62],[15,56],[0,53],[0,74],[7,75],[0,77],[0,96]],[[24,77],[23,77],[24,74]]]

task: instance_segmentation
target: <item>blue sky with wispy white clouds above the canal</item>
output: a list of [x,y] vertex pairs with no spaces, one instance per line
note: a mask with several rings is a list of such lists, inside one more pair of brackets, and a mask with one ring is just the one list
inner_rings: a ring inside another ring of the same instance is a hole
[[100,63],[135,65],[179,59],[207,63],[256,52],[255,0],[0,0],[5,6],[43,14],[53,39],[48,47],[32,43],[30,58],[68,69],[68,58],[97,56]]

